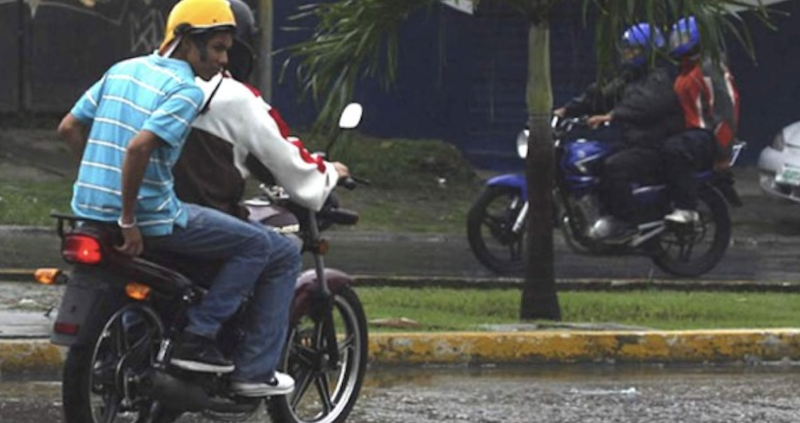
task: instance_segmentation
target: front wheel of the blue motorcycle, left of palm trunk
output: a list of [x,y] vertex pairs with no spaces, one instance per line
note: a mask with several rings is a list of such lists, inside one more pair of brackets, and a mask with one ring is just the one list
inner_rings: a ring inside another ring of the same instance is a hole
[[[521,272],[525,266],[525,226],[512,232],[525,199],[513,187],[490,186],[467,214],[467,240],[481,264],[498,274]],[[527,219],[526,219],[527,223]]]

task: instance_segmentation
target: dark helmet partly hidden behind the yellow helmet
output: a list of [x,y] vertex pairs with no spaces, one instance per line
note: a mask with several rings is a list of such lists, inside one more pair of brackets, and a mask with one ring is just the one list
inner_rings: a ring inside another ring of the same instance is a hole
[[228,0],[236,19],[233,47],[228,51],[228,71],[237,81],[246,81],[253,71],[256,55],[253,45],[258,27],[253,11],[243,0]]

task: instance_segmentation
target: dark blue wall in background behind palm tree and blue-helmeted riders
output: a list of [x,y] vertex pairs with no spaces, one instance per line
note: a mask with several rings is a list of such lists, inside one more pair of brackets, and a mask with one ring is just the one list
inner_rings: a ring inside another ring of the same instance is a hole
[[[282,3],[282,2],[277,2]],[[498,2],[484,2],[487,7]],[[562,2],[551,26],[555,105],[579,94],[595,74],[593,39],[574,3]],[[482,6],[484,7],[484,6]],[[276,4],[278,21],[294,6]],[[749,143],[743,161],[758,153],[784,125],[800,119],[800,2],[775,6],[778,31],[752,16],[757,61],[730,40],[731,67],[742,96],[740,137]],[[285,40],[283,35],[276,39]],[[417,16],[405,27],[396,86],[389,92],[365,81],[355,100],[366,106],[363,130],[378,136],[442,138],[483,168],[519,168],[513,141],[526,121],[527,23],[502,8],[469,16],[440,8]],[[297,99],[292,84],[277,87],[273,100],[282,110]],[[284,112],[307,124],[308,105]]]

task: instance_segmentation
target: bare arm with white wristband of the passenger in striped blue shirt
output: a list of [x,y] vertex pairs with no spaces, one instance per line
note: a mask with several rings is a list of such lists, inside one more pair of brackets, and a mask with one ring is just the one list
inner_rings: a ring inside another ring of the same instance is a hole
[[125,153],[125,161],[122,163],[122,215],[119,220],[125,241],[122,246],[117,247],[124,254],[138,256],[144,250],[142,234],[136,226],[136,203],[150,155],[160,142],[156,134],[146,130],[139,131],[128,144]]

